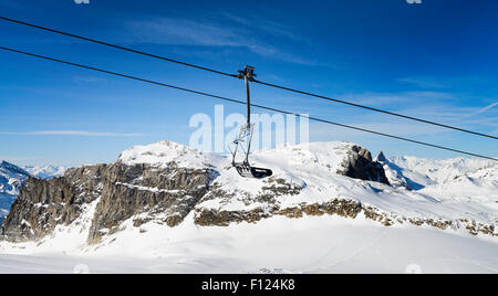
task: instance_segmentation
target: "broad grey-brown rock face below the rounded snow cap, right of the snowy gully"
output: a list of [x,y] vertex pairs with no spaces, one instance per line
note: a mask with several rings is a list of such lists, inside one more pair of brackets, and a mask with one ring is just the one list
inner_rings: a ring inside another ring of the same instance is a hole
[[211,176],[210,170],[177,168],[174,162],[164,169],[121,161],[108,166],[89,243],[118,231],[123,221],[142,213],[146,214],[134,220],[135,226],[153,220],[176,226],[206,194]]

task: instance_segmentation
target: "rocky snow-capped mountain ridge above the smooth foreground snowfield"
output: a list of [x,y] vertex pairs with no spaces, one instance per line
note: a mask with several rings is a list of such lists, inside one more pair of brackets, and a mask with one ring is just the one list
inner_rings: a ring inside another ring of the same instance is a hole
[[[133,147],[114,163],[69,169],[51,180],[31,177],[12,204],[1,237],[13,242],[41,240],[56,228],[82,223],[83,213],[91,216],[85,226],[89,244],[126,225],[175,228],[188,215],[200,226],[251,223],[273,215],[364,214],[384,225],[406,222],[458,228],[452,222],[456,220],[439,215],[403,216],[407,204],[427,199],[392,188],[383,166],[356,145],[281,147],[257,152],[252,160],[271,168],[274,175],[262,180],[245,179],[230,168],[226,156],[163,141]],[[452,215],[458,218],[460,213]],[[475,223],[471,218],[467,221]],[[494,233],[483,223],[475,223],[474,230]]]

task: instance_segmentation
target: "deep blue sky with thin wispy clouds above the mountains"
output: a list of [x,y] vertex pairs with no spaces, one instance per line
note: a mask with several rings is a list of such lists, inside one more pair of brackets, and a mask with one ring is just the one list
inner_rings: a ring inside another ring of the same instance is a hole
[[[478,2],[478,4],[477,4]],[[261,81],[498,135],[494,0],[2,0],[0,14]],[[243,99],[240,81],[0,21],[0,44]],[[0,52],[0,159],[114,161],[133,146],[188,144],[189,118],[216,99]],[[255,85],[258,104],[498,156],[496,140]],[[242,113],[239,105],[225,112]],[[255,110],[256,112],[256,110]],[[311,124],[311,140],[376,154],[457,155]]]

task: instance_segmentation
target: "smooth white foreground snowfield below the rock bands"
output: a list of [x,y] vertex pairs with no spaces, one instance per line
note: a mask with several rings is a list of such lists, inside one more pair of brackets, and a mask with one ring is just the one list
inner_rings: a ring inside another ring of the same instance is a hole
[[199,228],[191,220],[174,229],[148,224],[96,250],[80,249],[69,233],[58,235],[68,235],[66,247],[74,249],[0,244],[0,273],[498,273],[496,241],[413,225],[385,228],[365,219],[280,216],[230,228]]

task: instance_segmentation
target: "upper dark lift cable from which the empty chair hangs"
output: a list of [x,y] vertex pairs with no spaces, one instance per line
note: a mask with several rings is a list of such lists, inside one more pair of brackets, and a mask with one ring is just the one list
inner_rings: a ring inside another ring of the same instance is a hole
[[[46,27],[33,24],[33,23],[28,23],[28,22],[24,22],[24,21],[6,18],[6,17],[2,17],[2,15],[0,15],[0,20],[4,20],[4,21],[22,24],[22,25],[35,28],[35,29],[39,29],[39,30],[49,31],[49,32],[62,34],[62,35],[65,35],[65,36],[71,36],[71,38],[75,38],[75,39],[80,39],[80,40],[97,43],[97,44],[105,45],[105,46],[111,46],[111,47],[114,47],[114,49],[118,49],[118,50],[123,50],[123,51],[127,51],[127,52],[132,52],[132,53],[146,55],[146,56],[154,57],[154,59],[159,59],[159,60],[167,61],[167,62],[181,64],[181,65],[194,67],[194,68],[198,68],[198,70],[212,72],[212,73],[225,75],[225,76],[228,76],[228,77],[237,77],[237,74],[230,74],[230,73],[226,73],[226,72],[222,72],[222,71],[214,70],[214,68],[199,66],[199,65],[195,65],[195,64],[177,61],[177,60],[174,60],[174,59],[169,59],[169,57],[165,57],[165,56],[160,56],[160,55],[156,55],[156,54],[152,54],[152,53],[147,53],[147,52],[143,52],[143,51],[138,51],[138,50],[134,50],[134,49],[129,49],[129,47],[125,47],[125,46],[121,46],[121,45],[116,45],[116,44],[112,44],[112,43],[108,43],[108,42],[98,41],[98,40],[95,40],[95,39],[85,38],[85,36],[82,36],[82,35],[68,33],[68,32],[63,32],[63,31],[60,31],[60,30],[55,30],[55,29],[51,29],[51,28],[46,28]],[[308,96],[312,96],[312,97],[317,97],[317,98],[322,98],[322,99],[326,99],[326,101],[331,101],[331,102],[335,102],[335,103],[340,103],[340,104],[345,104],[345,105],[357,107],[357,108],[363,108],[363,109],[377,112],[377,113],[382,113],[382,114],[386,114],[386,115],[391,115],[391,116],[396,116],[396,117],[401,117],[401,118],[404,118],[404,119],[415,120],[415,121],[418,121],[418,123],[434,125],[434,126],[438,126],[438,127],[443,127],[443,128],[447,128],[447,129],[453,129],[453,130],[457,130],[457,131],[461,131],[461,133],[467,133],[467,134],[471,134],[474,136],[486,137],[486,138],[490,138],[490,139],[495,139],[495,140],[498,139],[497,136],[492,136],[492,135],[488,135],[488,134],[484,134],[484,133],[478,133],[478,131],[474,131],[474,130],[469,130],[469,129],[464,129],[464,128],[459,128],[459,127],[454,127],[454,126],[449,126],[449,125],[445,125],[445,124],[439,124],[439,123],[436,123],[436,121],[432,121],[432,120],[427,120],[427,119],[423,119],[423,118],[418,118],[418,117],[413,117],[413,116],[408,116],[408,115],[403,115],[403,114],[398,114],[398,113],[394,113],[394,112],[388,112],[388,110],[384,110],[384,109],[380,109],[380,108],[369,107],[369,106],[365,106],[365,105],[360,105],[360,104],[355,104],[355,103],[351,103],[351,102],[346,102],[346,101],[342,101],[342,99],[336,99],[336,98],[332,98],[332,97],[328,97],[328,96],[323,96],[323,95],[319,95],[319,94],[312,94],[312,93],[309,93],[309,92],[299,91],[299,89],[294,89],[294,88],[291,88],[291,87],[276,85],[276,84],[271,84],[271,83],[267,83],[267,82],[262,82],[262,81],[257,81],[257,80],[252,80],[251,82],[256,82],[256,83],[261,84],[261,85],[280,88],[280,89],[283,89],[283,91],[288,91],[288,92],[293,92],[293,93],[308,95]]]

